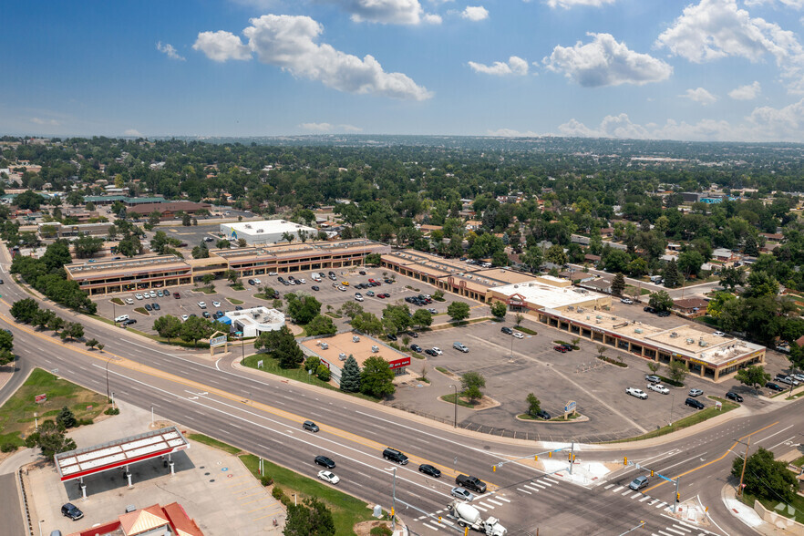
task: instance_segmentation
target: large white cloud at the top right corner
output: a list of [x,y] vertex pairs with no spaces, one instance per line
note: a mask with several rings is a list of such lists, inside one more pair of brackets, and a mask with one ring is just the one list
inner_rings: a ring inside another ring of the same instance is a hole
[[758,62],[769,54],[776,59],[782,77],[789,80],[789,90],[804,92],[804,47],[796,34],[751,17],[737,7],[737,0],[701,0],[688,5],[656,39],[656,46],[666,46],[694,63],[723,57]]

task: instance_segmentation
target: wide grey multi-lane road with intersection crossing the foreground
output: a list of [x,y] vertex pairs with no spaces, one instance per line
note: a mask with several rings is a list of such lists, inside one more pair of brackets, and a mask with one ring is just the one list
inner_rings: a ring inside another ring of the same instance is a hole
[[[747,527],[730,516],[720,500],[735,457],[733,450],[742,451],[736,441],[750,434],[752,446],[777,452],[801,442],[802,425],[795,417],[799,403],[795,402],[772,407],[761,415],[746,411],[744,417],[725,424],[650,446],[580,446],[576,451],[578,461],[611,462],[628,456],[668,477],[681,475],[682,500],[697,497],[709,507],[711,522],[704,529],[670,515],[675,495],[672,484],[653,479],[641,493],[628,492],[628,483],[638,474],[634,466],[623,467],[593,486],[581,486],[558,475],[546,475],[526,461],[510,461],[531,458],[546,447],[453,430],[340,393],[242,370],[232,366],[239,349],[215,361],[208,352],[157,345],[47,304],[68,320],[82,321],[86,336],[106,347],[101,353],[82,344],[63,343],[51,332],[15,324],[8,308],[30,294],[10,278],[5,281],[0,321],[14,332],[22,374],[0,390],[0,398],[18,386],[29,367],[58,369],[59,376],[80,385],[101,393],[108,386],[119,399],[153,407],[156,414],[182,426],[311,477],[320,469],[313,463],[314,456],[325,454],[337,464],[339,488],[385,508],[392,501],[391,469],[395,464],[382,458],[382,450],[398,448],[407,453],[410,463],[396,466],[397,511],[412,531],[421,534],[458,533],[444,509],[459,472],[490,483],[489,492],[475,504],[484,515],[500,518],[510,534],[621,534],[641,521],[645,523],[642,533],[647,534],[742,534]],[[321,431],[302,430],[305,419],[314,420]],[[565,459],[566,455],[559,456]],[[493,471],[492,466],[503,460],[509,461]],[[421,463],[437,466],[442,478],[419,473]],[[436,521],[439,515],[440,524]]]

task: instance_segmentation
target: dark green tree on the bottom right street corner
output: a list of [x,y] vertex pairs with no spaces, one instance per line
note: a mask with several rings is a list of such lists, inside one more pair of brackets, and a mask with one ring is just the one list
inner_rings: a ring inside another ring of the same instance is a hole
[[731,476],[739,479],[744,474],[745,493],[759,499],[784,502],[793,500],[799,486],[796,474],[788,469],[786,462],[774,459],[773,452],[758,448],[745,461],[745,473],[743,463],[742,457],[736,457],[732,461]]

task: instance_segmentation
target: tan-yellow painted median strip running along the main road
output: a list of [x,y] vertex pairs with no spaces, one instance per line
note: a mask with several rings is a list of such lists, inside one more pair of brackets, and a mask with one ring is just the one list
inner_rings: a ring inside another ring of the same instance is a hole
[[[5,302],[5,300],[3,300],[3,299],[0,299],[0,303],[3,303],[6,306],[9,306]],[[110,359],[110,357],[115,357],[115,358],[118,359],[117,361],[115,361],[116,366],[120,366],[122,368],[127,368],[127,369],[129,369],[131,371],[139,372],[140,374],[143,374],[145,376],[151,376],[151,377],[154,377],[154,378],[159,378],[159,379],[162,379],[162,380],[177,384],[179,386],[198,389],[200,391],[205,391],[208,394],[217,395],[218,397],[222,397],[222,398],[225,398],[227,400],[230,400],[231,402],[233,402],[235,404],[240,404],[243,407],[250,407],[250,408],[259,410],[259,411],[261,411],[261,412],[263,412],[265,414],[273,415],[274,417],[285,418],[285,419],[290,420],[292,422],[295,422],[295,423],[297,423],[299,425],[301,425],[305,420],[307,420],[306,417],[301,417],[299,415],[296,415],[296,414],[291,413],[289,411],[285,411],[285,410],[280,409],[278,407],[273,407],[273,406],[269,406],[267,404],[263,404],[261,402],[255,402],[253,400],[244,399],[243,397],[238,397],[238,396],[232,395],[231,393],[229,393],[227,391],[224,391],[224,390],[222,390],[220,388],[207,386],[207,385],[205,385],[205,384],[203,384],[201,382],[188,380],[188,379],[185,379],[185,378],[183,378],[181,376],[176,376],[176,375],[173,375],[173,374],[170,374],[170,373],[167,373],[167,372],[160,371],[159,369],[153,368],[151,366],[142,365],[139,362],[132,361],[128,357],[119,356],[119,355],[117,355],[117,354],[115,354],[113,352],[104,352],[103,354],[100,354],[98,352],[89,352],[88,350],[84,350],[82,348],[76,347],[75,345],[70,345],[69,343],[65,343],[65,342],[62,342],[60,340],[54,339],[53,337],[43,335],[40,332],[36,332],[34,329],[28,327],[27,325],[20,325],[20,324],[17,324],[15,322],[12,322],[7,316],[5,316],[5,314],[0,314],[0,319],[2,319],[6,324],[13,325],[16,328],[26,332],[29,335],[33,335],[33,336],[35,336],[35,337],[37,337],[39,339],[42,339],[42,340],[44,340],[46,342],[51,343],[51,344],[61,346],[64,349],[72,350],[72,351],[77,352],[79,354],[82,354],[84,356],[88,356],[88,357],[90,357],[92,359],[97,359],[97,360],[99,360],[101,362],[106,362],[106,361],[108,361]],[[356,443],[358,445],[362,445],[362,446],[364,446],[366,448],[370,448],[370,449],[376,450],[378,452],[382,452],[387,447],[386,443],[379,443],[379,442],[374,441],[372,439],[363,438],[362,436],[358,436],[356,434],[353,434],[352,432],[348,432],[348,431],[340,429],[340,428],[323,426],[323,427],[321,427],[321,431],[326,431],[326,432],[334,435],[335,437],[345,439],[346,441],[354,442],[354,443]],[[414,461],[416,461],[416,463],[418,463],[418,464],[427,463],[429,465],[432,465],[434,467],[437,467],[437,468],[441,469],[441,472],[446,474],[446,475],[456,477],[459,474],[458,472],[455,472],[452,469],[448,469],[446,466],[442,466],[442,465],[440,465],[440,464],[438,464],[438,463],[436,463],[434,461],[430,461],[430,460],[425,459],[425,458],[420,458],[420,457],[417,457],[417,456],[409,456],[409,459],[410,459],[411,465],[414,463]],[[500,488],[499,485],[492,484],[492,483],[490,483],[488,481],[487,481],[487,484],[488,484],[489,490],[496,490],[496,489]]]

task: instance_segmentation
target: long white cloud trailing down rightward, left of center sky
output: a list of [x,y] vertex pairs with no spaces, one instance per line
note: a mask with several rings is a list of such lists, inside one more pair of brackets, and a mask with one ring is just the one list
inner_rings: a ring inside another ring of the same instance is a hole
[[254,54],[262,63],[281,67],[294,77],[316,80],[346,93],[411,100],[432,97],[427,88],[406,75],[384,71],[370,55],[361,59],[331,45],[317,44],[324,28],[309,16],[263,15],[250,22],[252,26],[242,31],[248,45],[243,45],[240,37],[220,31],[200,33],[193,48],[215,61],[247,59]]

